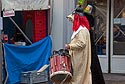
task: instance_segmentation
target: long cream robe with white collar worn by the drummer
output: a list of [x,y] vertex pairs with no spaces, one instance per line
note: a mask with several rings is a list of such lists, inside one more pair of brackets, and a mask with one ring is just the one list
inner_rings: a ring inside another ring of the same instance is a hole
[[92,84],[89,30],[80,26],[76,32],[73,32],[69,45],[73,68],[71,84]]

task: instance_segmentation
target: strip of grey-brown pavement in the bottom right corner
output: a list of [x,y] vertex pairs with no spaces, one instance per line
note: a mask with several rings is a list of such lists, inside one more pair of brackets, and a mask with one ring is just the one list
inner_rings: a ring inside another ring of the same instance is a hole
[[125,74],[103,74],[106,84],[125,84]]

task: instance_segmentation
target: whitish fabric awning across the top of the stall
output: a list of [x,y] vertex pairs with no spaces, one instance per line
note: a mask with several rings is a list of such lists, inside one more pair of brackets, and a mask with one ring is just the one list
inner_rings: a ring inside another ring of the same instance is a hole
[[1,0],[2,10],[43,10],[48,9],[49,0]]

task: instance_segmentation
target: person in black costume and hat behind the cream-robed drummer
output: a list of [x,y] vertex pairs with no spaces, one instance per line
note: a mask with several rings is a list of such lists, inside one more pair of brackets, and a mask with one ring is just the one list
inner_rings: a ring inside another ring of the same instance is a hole
[[92,84],[105,84],[103,73],[101,70],[99,58],[96,53],[96,45],[94,42],[94,16],[95,7],[92,4],[88,4],[84,9],[84,15],[90,24],[90,39],[91,39],[91,72],[92,72]]

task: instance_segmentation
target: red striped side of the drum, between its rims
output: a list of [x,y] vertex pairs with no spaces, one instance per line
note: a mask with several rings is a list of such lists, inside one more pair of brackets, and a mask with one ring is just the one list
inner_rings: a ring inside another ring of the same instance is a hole
[[71,71],[71,61],[68,56],[54,55],[50,58],[50,74],[56,71]]

